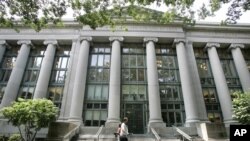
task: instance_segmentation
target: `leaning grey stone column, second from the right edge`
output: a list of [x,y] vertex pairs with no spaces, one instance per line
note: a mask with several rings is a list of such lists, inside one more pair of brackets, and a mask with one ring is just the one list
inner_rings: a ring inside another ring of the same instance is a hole
[[218,93],[220,106],[223,114],[223,120],[227,126],[234,122],[232,118],[232,100],[227,87],[226,78],[220,63],[220,59],[216,48],[220,47],[219,43],[207,43],[206,48],[208,52],[209,62],[211,65],[216,90]]

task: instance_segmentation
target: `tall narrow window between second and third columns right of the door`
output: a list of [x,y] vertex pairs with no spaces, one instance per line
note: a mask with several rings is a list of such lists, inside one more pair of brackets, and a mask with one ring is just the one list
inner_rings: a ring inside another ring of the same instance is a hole
[[200,76],[203,98],[208,119],[211,122],[222,122],[222,113],[218,100],[216,86],[212,75],[207,53],[202,48],[194,48],[196,63]]

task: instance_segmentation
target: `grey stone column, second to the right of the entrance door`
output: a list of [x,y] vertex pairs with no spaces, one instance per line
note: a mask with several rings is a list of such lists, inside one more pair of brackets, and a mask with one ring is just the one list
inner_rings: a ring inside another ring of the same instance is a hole
[[196,105],[196,97],[192,86],[191,73],[189,71],[185,39],[175,39],[177,59],[179,64],[181,88],[184,99],[184,107],[186,113],[186,126],[195,126],[194,123],[199,122],[198,109]]

